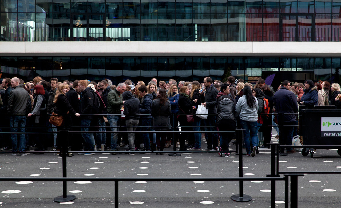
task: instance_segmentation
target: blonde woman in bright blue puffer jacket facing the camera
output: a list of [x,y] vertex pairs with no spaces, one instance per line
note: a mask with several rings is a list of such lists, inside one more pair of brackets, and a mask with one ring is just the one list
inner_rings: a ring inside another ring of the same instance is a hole
[[[175,84],[172,84],[169,86],[167,97],[168,97],[168,100],[170,101],[170,109],[172,110],[172,115],[170,115],[170,125],[172,125],[172,129],[174,131],[178,132],[179,128],[178,128],[178,118],[177,118],[178,115],[177,114],[179,112],[179,105],[178,105],[179,92],[178,92],[178,87]],[[171,137],[173,137],[173,134],[168,133],[165,148],[170,147]],[[173,138],[173,143],[175,147],[178,147],[178,138],[179,138],[179,133],[175,133],[174,138]]]

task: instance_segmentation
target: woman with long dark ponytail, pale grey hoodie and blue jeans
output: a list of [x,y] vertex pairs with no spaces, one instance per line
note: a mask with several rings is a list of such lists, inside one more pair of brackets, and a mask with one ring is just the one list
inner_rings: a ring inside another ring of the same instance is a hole
[[246,149],[246,156],[250,156],[250,137],[252,142],[252,153],[251,156],[254,157],[257,150],[257,110],[258,101],[257,98],[252,96],[252,91],[249,86],[244,86],[243,96],[239,98],[236,105],[236,112],[240,118],[241,128],[243,128],[244,142]]

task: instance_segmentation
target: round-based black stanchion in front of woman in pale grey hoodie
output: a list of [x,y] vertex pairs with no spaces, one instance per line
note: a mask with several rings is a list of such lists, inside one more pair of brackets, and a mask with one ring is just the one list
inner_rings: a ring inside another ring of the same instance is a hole
[[[239,138],[239,177],[243,177],[243,147],[242,147],[242,141],[241,141],[241,132],[240,130],[237,130],[237,135]],[[239,181],[239,194],[235,194],[231,196],[231,199],[236,202],[249,202],[251,201],[252,197],[246,194],[243,194],[243,181]]]

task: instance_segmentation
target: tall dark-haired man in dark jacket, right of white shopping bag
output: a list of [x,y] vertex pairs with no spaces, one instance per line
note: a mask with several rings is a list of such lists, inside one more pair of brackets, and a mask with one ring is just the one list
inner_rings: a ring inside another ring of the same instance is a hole
[[[218,90],[214,87],[211,77],[206,77],[204,79],[204,85],[206,88],[206,94],[205,98],[202,99],[205,101],[202,105],[208,109],[208,114],[217,114],[216,106],[218,104]],[[203,93],[204,92],[202,92],[201,94],[203,95]],[[210,126],[205,127],[205,131],[213,131],[207,133],[207,148],[203,149],[204,151],[210,151],[212,148],[216,149],[218,147],[218,135],[216,132],[214,132],[216,131],[216,120],[216,115],[208,115],[207,119],[204,119],[205,126]]]

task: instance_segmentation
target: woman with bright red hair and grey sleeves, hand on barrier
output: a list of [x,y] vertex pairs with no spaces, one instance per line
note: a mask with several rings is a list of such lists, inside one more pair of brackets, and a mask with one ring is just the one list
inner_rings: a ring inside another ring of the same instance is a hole
[[[47,109],[46,109],[46,100],[44,97],[45,90],[44,87],[41,85],[36,85],[34,87],[34,103],[33,103],[33,110],[31,113],[29,113],[27,116],[30,117],[32,115],[36,115],[34,117],[34,127],[46,127],[46,116],[38,116],[38,115],[46,115]],[[39,131],[39,129],[35,129],[36,131]],[[34,131],[35,131],[34,130]],[[42,131],[45,131],[46,129],[42,129]],[[38,145],[38,151],[45,151],[45,148],[47,148],[47,144],[44,143],[44,138],[46,137],[45,134],[38,133],[36,135],[36,145]]]

